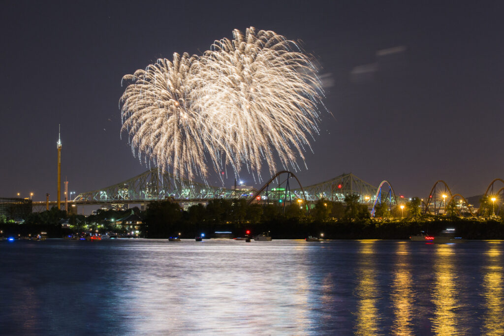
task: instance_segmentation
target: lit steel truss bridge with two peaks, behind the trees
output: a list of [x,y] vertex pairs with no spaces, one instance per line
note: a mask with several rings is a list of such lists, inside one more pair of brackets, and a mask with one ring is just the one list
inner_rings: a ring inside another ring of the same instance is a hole
[[[202,203],[211,199],[222,198],[245,198],[249,202],[254,200],[287,201],[296,199],[313,202],[321,198],[343,201],[345,195],[350,193],[358,194],[363,203],[372,204],[375,191],[376,187],[352,173],[342,174],[328,181],[303,188],[292,172],[280,171],[260,189],[244,190],[237,187],[235,190],[195,181],[177,181],[171,174],[160,174],[157,168],[153,168],[108,187],[80,193],[73,200],[69,200],[69,204],[143,204],[163,199],[171,199],[182,203]],[[53,203],[55,204],[55,202],[50,202],[49,205]],[[41,207],[47,204],[46,202],[37,202],[35,205]]]

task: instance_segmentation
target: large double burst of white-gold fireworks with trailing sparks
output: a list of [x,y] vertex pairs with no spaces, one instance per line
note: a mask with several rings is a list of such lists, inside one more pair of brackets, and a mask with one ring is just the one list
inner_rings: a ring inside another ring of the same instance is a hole
[[[174,54],[124,76],[122,131],[132,151],[164,172],[193,179],[230,165],[270,173],[276,158],[297,170],[318,132],[317,69],[293,41],[272,31],[233,31],[201,57]],[[296,51],[296,50],[297,51]]]

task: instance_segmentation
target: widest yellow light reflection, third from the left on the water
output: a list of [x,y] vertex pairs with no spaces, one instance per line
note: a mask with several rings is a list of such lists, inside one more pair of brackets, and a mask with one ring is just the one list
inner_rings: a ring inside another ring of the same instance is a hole
[[434,288],[432,302],[434,303],[434,318],[432,331],[438,335],[456,335],[461,330],[457,325],[457,289],[454,280],[455,253],[452,245],[436,245],[436,260],[434,264]]

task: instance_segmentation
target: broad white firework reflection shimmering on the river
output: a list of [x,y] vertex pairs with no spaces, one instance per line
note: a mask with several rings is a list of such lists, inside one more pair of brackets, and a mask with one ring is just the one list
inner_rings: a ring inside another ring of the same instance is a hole
[[136,332],[255,334],[274,326],[306,334],[311,308],[310,266],[302,262],[306,249],[258,244],[179,245],[157,260],[168,269],[130,273],[132,313],[143,316],[132,321]]

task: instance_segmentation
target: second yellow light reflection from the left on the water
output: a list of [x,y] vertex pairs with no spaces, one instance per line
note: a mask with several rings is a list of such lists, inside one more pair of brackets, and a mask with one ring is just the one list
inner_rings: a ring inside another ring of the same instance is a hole
[[395,277],[392,283],[391,299],[394,305],[395,320],[392,333],[395,335],[411,335],[412,330],[412,278],[409,266],[409,244],[400,242],[396,250]]

